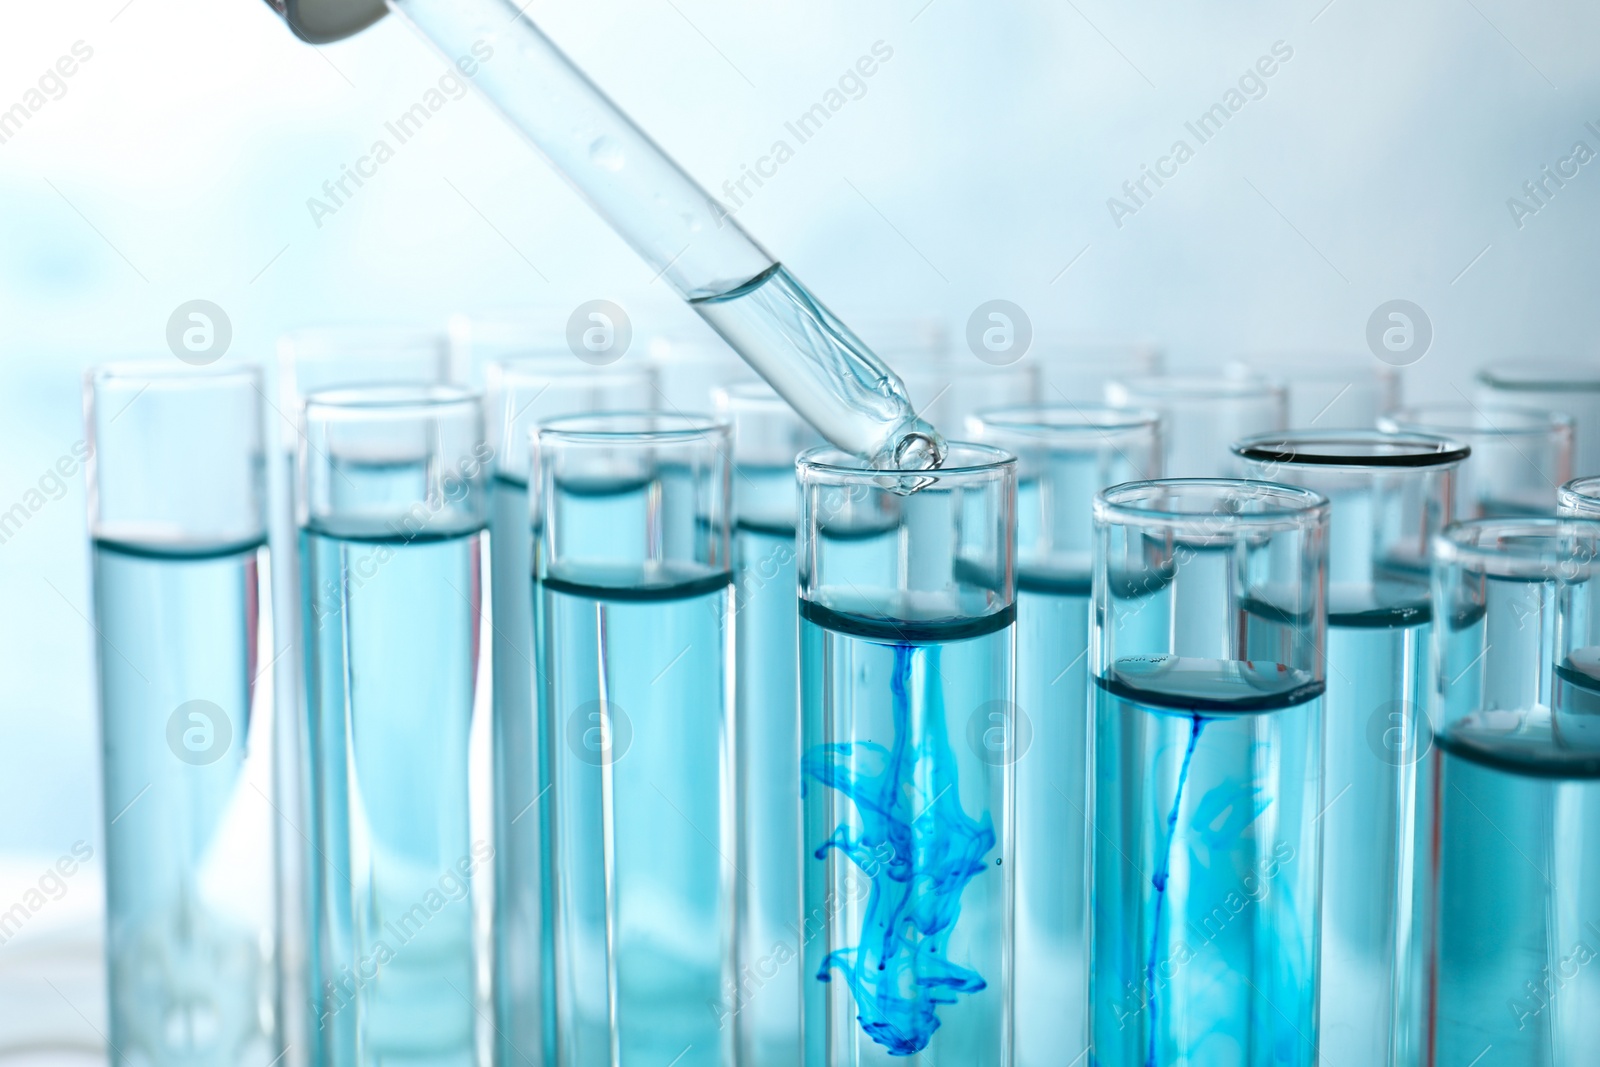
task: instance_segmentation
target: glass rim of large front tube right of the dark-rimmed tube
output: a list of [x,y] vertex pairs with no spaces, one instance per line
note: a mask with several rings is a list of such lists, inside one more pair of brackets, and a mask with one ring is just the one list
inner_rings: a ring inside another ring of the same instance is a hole
[[1587,581],[1600,573],[1600,520],[1470,518],[1434,534],[1432,557],[1435,568],[1459,566],[1490,577]]

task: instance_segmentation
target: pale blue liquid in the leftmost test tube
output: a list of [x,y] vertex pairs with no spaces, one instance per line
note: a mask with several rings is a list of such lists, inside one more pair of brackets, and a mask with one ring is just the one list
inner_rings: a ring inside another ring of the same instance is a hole
[[[256,544],[94,544],[117,1067],[266,1067],[282,1051],[266,569]],[[179,712],[190,701],[206,704]]]

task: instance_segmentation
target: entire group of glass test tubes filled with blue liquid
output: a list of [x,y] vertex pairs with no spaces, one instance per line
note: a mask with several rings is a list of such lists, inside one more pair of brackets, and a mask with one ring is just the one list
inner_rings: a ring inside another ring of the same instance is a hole
[[114,1062],[1581,1062],[1600,419],[882,347],[93,371]]

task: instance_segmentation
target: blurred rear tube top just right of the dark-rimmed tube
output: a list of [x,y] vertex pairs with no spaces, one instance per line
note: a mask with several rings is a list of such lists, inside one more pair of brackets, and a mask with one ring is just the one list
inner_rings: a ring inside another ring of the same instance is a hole
[[1573,474],[1573,419],[1555,411],[1424,405],[1378,419],[1390,434],[1438,434],[1472,448],[1456,475],[1451,518],[1554,515]]

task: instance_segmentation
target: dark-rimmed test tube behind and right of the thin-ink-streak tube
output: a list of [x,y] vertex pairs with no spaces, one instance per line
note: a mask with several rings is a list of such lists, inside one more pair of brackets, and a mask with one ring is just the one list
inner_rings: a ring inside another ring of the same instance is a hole
[[1421,1056],[1414,913],[1432,792],[1427,552],[1450,522],[1456,442],[1378,430],[1290,430],[1240,442],[1253,478],[1328,498],[1323,699],[1322,1043],[1350,1062]]

